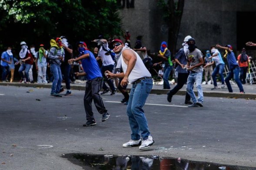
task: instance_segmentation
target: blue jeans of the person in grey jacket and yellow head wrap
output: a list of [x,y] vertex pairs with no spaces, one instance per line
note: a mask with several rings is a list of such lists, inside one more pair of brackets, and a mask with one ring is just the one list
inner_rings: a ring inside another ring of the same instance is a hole
[[53,74],[53,84],[52,84],[51,93],[59,93],[61,83],[62,83],[62,74],[61,74],[60,66],[57,64],[50,64],[50,69]]

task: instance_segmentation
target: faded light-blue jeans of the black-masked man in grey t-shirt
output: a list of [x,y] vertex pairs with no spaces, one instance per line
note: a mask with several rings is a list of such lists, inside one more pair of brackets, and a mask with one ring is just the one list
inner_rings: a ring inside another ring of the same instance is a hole
[[[202,77],[203,77],[203,72],[190,72],[190,75],[188,77],[186,91],[187,93],[189,93],[193,103],[196,103],[197,101],[203,103],[203,89],[201,86]],[[193,90],[193,86],[195,82],[196,82],[196,89],[198,93],[198,99],[196,99],[196,95]]]

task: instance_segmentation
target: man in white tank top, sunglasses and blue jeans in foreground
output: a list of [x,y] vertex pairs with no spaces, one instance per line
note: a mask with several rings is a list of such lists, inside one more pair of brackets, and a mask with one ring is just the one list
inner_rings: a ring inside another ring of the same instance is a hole
[[140,56],[132,49],[124,47],[120,39],[114,39],[110,43],[110,47],[113,48],[116,57],[120,56],[116,69],[123,69],[123,73],[113,74],[110,71],[106,71],[108,77],[123,78],[121,86],[125,86],[128,83],[133,85],[126,109],[132,134],[131,140],[123,144],[123,147],[140,146],[140,150],[149,148],[154,144],[154,141],[142,107],[153,87],[151,74],[146,69]]

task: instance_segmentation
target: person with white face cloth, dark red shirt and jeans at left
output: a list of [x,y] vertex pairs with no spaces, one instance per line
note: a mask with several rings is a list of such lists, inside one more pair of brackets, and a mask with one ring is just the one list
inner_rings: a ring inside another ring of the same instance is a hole
[[[29,83],[29,70],[31,66],[33,65],[33,55],[31,54],[30,50],[27,48],[26,42],[20,42],[21,50],[20,50],[20,68],[19,73],[21,76],[21,82]],[[25,71],[25,76],[23,74],[23,71]]]

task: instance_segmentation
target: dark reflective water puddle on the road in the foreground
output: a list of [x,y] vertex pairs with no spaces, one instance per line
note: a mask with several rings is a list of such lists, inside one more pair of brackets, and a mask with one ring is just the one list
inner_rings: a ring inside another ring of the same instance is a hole
[[84,170],[256,170],[253,167],[215,164],[180,158],[132,155],[63,154]]

